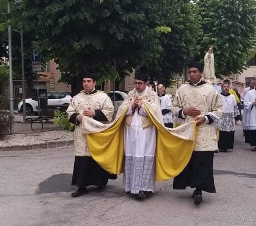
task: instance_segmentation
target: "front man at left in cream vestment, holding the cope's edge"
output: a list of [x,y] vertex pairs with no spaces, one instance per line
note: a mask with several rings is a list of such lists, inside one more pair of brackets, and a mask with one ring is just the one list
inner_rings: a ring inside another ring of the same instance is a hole
[[86,194],[86,186],[96,185],[104,188],[108,183],[109,173],[92,159],[91,150],[81,132],[83,117],[104,123],[112,121],[114,113],[112,101],[106,93],[95,90],[96,75],[87,71],[83,72],[84,90],[73,97],[67,109],[69,121],[75,124],[75,164],[72,185],[76,185],[78,190],[72,193],[73,197]]

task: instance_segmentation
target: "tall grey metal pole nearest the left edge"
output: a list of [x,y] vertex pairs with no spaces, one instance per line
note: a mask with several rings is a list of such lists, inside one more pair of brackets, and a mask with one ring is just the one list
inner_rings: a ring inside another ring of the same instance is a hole
[[[11,12],[10,10],[10,2],[7,1],[7,12],[8,14]],[[10,85],[10,134],[13,133],[13,82],[12,82],[12,33],[11,33],[11,25],[10,19],[8,19],[9,26],[8,26],[8,52],[9,52],[9,85]]]

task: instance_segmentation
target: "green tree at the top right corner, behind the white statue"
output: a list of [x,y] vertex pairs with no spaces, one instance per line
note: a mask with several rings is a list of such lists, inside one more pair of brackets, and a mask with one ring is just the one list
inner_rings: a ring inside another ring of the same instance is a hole
[[241,73],[256,41],[256,0],[198,0],[204,37],[200,57],[214,45],[216,75]]

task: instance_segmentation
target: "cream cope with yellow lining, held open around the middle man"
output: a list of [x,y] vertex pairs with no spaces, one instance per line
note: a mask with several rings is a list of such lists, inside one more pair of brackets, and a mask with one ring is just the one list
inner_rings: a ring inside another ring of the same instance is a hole
[[137,96],[132,90],[117,112],[113,123],[104,125],[83,118],[82,132],[86,135],[91,156],[102,168],[120,174],[124,166],[124,126],[126,112],[134,98],[141,98],[149,120],[157,129],[156,180],[163,181],[178,175],[191,158],[196,136],[196,123],[188,122],[175,129],[164,127],[156,93],[148,90]]

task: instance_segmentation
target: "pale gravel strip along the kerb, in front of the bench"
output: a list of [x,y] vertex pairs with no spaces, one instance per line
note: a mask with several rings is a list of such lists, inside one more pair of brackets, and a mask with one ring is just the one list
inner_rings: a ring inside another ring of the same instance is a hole
[[42,144],[46,142],[65,140],[73,140],[73,132],[53,130],[30,134],[12,134],[5,136],[4,140],[0,140],[0,147]]

